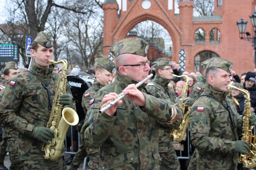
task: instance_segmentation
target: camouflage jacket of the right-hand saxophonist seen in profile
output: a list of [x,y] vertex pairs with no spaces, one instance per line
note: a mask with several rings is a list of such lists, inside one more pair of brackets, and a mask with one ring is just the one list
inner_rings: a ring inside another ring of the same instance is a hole
[[[238,153],[233,141],[242,134],[242,119],[225,92],[206,82],[202,95],[191,107],[190,140],[197,148],[197,169],[236,169]],[[227,109],[230,109],[230,114]],[[231,121],[230,121],[231,117]],[[233,122],[233,123],[232,123]],[[232,124],[234,133],[232,131]]]

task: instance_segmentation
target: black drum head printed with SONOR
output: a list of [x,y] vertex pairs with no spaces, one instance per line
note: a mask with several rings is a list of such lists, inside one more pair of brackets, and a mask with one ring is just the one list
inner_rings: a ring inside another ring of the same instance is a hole
[[84,113],[84,110],[82,108],[83,94],[87,89],[91,87],[90,86],[91,83],[89,84],[83,78],[75,75],[67,76],[67,81],[71,88],[71,93],[73,95],[73,98],[75,98],[76,112],[78,114],[79,121],[81,121],[82,119],[84,119],[86,115],[86,113]]

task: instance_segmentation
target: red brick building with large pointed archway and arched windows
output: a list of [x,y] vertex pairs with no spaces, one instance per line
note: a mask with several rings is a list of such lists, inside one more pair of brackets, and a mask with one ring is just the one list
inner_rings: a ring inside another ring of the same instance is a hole
[[[214,3],[214,16],[193,17],[194,2],[189,0],[179,2],[178,15],[174,13],[174,0],[122,0],[118,15],[116,0],[105,0],[103,55],[109,55],[109,47],[126,38],[135,25],[152,20],[170,34],[172,58],[182,69],[195,72],[200,62],[218,56],[231,60],[233,70],[239,75],[253,71],[254,46],[240,40],[236,22],[243,17],[248,21],[245,31],[254,36],[249,16],[255,11],[256,0],[214,0]],[[204,37],[198,37],[196,32]],[[152,55],[148,58],[154,60]]]

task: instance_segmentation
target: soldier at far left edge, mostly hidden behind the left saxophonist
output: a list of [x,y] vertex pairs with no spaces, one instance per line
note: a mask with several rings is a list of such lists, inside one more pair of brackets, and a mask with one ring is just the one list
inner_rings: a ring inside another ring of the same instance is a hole
[[[13,61],[10,61],[6,64],[4,69],[5,80],[7,83],[10,82],[17,74],[20,73],[20,69],[17,64]],[[0,91],[0,99],[4,94],[4,90]],[[18,148],[19,148],[19,133],[11,128],[2,126],[2,138],[3,142],[0,146],[0,169],[6,169],[4,166],[5,155],[7,151],[9,152],[11,166],[9,169],[23,169],[23,162],[19,161]],[[7,149],[7,150],[6,150]]]

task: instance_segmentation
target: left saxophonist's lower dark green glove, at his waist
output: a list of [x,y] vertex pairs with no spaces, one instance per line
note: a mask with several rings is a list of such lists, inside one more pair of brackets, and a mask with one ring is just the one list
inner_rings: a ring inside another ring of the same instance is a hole
[[54,131],[45,127],[35,127],[30,133],[29,137],[33,137],[35,139],[41,140],[45,144],[50,144],[48,140],[52,140],[54,138]]

